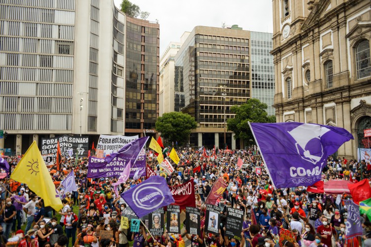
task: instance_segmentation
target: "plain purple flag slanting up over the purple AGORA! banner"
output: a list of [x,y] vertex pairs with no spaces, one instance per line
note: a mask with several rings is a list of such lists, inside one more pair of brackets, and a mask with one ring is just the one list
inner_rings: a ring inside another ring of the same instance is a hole
[[117,153],[113,153],[107,156],[104,160],[107,163],[110,163],[115,157],[120,159],[125,159],[126,161],[131,161],[131,164],[134,164],[139,156],[140,151],[143,149],[145,143],[147,142],[149,136],[136,139],[132,142],[129,142],[124,147],[122,147]]

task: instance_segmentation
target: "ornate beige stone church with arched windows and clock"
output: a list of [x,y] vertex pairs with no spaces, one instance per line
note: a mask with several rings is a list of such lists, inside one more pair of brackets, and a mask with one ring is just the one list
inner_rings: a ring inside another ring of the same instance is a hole
[[371,128],[370,0],[273,0],[278,122],[343,127],[356,158]]

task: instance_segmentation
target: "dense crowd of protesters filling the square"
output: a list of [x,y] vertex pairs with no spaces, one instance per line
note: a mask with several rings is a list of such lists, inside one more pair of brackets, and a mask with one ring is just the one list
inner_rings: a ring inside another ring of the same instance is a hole
[[[124,199],[114,193],[114,177],[88,179],[87,158],[64,159],[60,170],[51,166],[50,176],[55,184],[63,181],[71,170],[75,172],[78,190],[65,193],[63,208],[56,212],[27,186],[6,177],[0,179],[0,244],[19,247],[276,247],[279,246],[280,229],[290,229],[293,241],[283,241],[282,246],[343,247],[347,207],[336,196],[314,194],[306,187],[274,188],[262,159],[256,149],[212,150],[179,149],[180,163],[173,164],[177,172],[166,174],[160,171],[154,154],[147,153],[147,164],[167,179],[170,186],[193,179],[195,204],[201,209],[201,235],[168,234],[154,236],[143,225],[139,232],[120,227],[121,212],[126,208]],[[237,160],[243,161],[241,168]],[[11,169],[19,157],[7,158]],[[256,168],[260,168],[257,172]],[[259,174],[258,174],[259,173]],[[340,157],[329,157],[323,170],[323,180],[345,179],[360,181],[369,178],[371,165],[362,161],[347,161]],[[145,175],[145,174],[143,174]],[[205,199],[218,178],[222,177],[228,187],[218,200],[221,214],[219,236],[204,231]],[[120,194],[135,187],[145,177],[130,178],[119,186]],[[59,187],[60,194],[63,188]],[[341,195],[348,199],[349,195]],[[227,207],[244,211],[241,241],[225,236]],[[364,246],[371,246],[371,223],[361,218],[364,227]],[[21,230],[24,228],[24,231]],[[113,231],[111,239],[99,236],[99,231]],[[188,241],[185,241],[188,240]]]

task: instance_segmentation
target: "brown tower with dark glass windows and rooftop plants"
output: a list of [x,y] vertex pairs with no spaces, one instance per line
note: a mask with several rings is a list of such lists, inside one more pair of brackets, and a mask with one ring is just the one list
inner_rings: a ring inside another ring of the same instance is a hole
[[160,26],[126,18],[125,134],[156,135],[159,114]]

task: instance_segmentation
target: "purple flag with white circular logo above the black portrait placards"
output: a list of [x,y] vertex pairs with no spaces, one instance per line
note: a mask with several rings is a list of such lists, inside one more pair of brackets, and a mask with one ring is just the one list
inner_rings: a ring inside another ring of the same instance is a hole
[[169,186],[162,176],[149,177],[139,185],[122,193],[121,197],[139,218],[175,202]]

